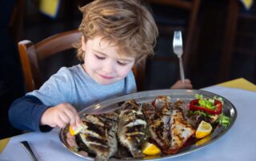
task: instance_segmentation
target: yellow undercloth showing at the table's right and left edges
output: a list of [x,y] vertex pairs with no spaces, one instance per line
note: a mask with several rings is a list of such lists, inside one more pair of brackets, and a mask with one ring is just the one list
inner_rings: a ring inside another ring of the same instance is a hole
[[[241,88],[249,91],[256,91],[256,85],[253,83],[250,83],[250,81],[247,81],[244,78],[238,78],[232,81],[226,81],[218,85],[223,87],[229,87],[229,88]],[[0,153],[2,153],[2,151],[6,147],[7,143],[9,143],[9,141],[10,141],[10,138],[0,140]]]

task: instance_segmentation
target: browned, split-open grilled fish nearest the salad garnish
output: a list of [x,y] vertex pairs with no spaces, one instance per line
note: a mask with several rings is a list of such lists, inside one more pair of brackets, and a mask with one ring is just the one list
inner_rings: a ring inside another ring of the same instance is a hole
[[[153,105],[152,105],[153,104]],[[169,96],[158,96],[152,104],[144,103],[142,111],[149,124],[151,139],[166,154],[177,153],[186,140],[194,135],[194,128],[184,119],[182,110],[170,102]]]

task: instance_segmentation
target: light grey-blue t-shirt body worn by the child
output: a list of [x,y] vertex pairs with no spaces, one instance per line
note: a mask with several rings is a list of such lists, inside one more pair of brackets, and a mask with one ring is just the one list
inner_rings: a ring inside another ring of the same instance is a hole
[[90,78],[82,65],[75,65],[70,68],[62,67],[41,88],[26,95],[38,97],[47,106],[68,102],[79,112],[90,104],[136,91],[132,71],[121,81],[102,85]]

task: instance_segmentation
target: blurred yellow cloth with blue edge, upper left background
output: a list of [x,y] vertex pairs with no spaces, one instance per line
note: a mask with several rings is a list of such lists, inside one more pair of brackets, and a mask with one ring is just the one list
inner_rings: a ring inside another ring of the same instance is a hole
[[39,0],[39,10],[50,18],[56,18],[61,0]]

